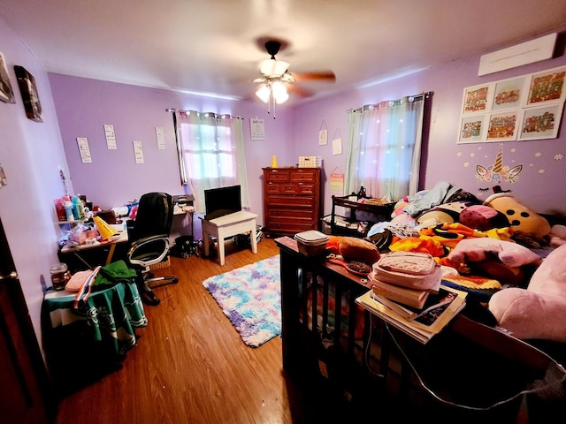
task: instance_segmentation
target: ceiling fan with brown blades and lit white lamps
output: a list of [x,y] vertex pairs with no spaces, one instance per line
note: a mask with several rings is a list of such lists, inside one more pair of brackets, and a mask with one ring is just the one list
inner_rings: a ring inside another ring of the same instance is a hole
[[[263,41],[264,39],[260,39],[258,42]],[[312,95],[308,90],[296,86],[295,83],[307,81],[334,82],[336,80],[336,75],[332,71],[289,72],[290,64],[275,58],[279,50],[285,47],[287,47],[287,42],[267,39],[264,42],[264,48],[271,57],[259,63],[258,71],[261,76],[253,79],[254,83],[259,84],[256,95],[268,104],[268,113],[271,113],[272,107],[273,110],[275,109],[276,103],[287,102],[289,98],[287,91],[293,91],[302,97]]]

